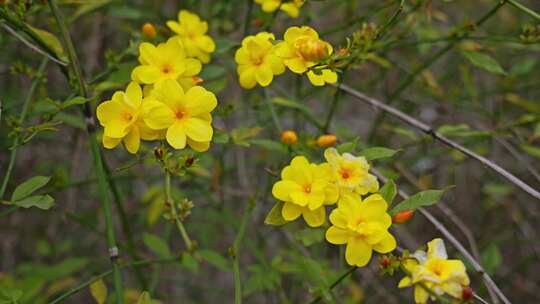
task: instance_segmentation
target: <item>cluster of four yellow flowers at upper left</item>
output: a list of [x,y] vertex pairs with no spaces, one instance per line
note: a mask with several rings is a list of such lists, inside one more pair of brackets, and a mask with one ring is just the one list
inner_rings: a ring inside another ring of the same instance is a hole
[[199,152],[210,147],[217,99],[198,86],[197,75],[201,61],[210,60],[214,42],[205,34],[206,22],[187,11],[180,11],[179,22],[167,25],[178,35],[158,45],[141,43],[133,82],[97,108],[107,149],[123,142],[130,153],[137,153],[141,139],[166,139],[175,149],[187,145]]

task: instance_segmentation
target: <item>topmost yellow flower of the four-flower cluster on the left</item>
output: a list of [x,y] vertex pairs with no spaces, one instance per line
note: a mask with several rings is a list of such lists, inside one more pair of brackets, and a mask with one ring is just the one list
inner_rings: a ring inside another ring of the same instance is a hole
[[210,54],[216,50],[216,44],[212,37],[206,35],[206,21],[201,21],[196,14],[181,10],[178,13],[178,22],[167,21],[167,26],[178,35],[188,57],[197,58],[203,63],[210,62]]

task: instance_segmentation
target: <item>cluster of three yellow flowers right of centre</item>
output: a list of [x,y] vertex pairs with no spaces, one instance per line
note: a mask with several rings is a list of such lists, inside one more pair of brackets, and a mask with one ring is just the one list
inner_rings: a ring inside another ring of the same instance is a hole
[[347,263],[365,266],[373,251],[388,253],[396,248],[396,240],[388,232],[392,225],[388,204],[379,194],[362,199],[362,195],[379,190],[365,158],[340,155],[334,148],[324,154],[327,162],[322,164],[310,163],[304,156],[293,158],[272,194],[283,202],[283,219],[293,221],[302,215],[311,227],[323,225],[326,206],[337,203],[330,214],[332,226],[326,239],[332,244],[347,244]]

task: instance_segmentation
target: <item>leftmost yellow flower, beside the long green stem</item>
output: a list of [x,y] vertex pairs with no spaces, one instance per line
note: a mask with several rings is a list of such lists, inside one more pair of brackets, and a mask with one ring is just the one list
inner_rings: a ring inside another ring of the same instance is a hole
[[141,139],[158,139],[160,132],[151,130],[143,121],[152,102],[150,98],[143,100],[141,87],[132,82],[125,92],[116,92],[111,100],[101,103],[96,114],[105,128],[103,146],[113,149],[123,141],[130,153],[137,153]]

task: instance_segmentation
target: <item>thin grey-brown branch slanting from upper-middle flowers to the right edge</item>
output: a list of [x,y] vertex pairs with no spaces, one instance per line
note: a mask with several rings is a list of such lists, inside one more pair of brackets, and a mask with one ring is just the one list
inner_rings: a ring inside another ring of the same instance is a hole
[[485,165],[486,167],[490,168],[491,170],[495,171],[496,173],[498,173],[499,175],[501,175],[502,177],[504,177],[506,180],[508,180],[511,184],[517,186],[518,188],[520,188],[521,190],[527,192],[528,194],[530,194],[531,196],[533,196],[534,198],[537,198],[540,200],[540,192],[538,192],[537,190],[535,190],[534,188],[532,188],[531,186],[529,186],[528,184],[526,184],[525,182],[523,182],[521,179],[517,178],[516,176],[514,176],[512,173],[506,171],[505,169],[503,169],[501,166],[499,166],[498,164],[492,162],[491,160],[483,157],[483,156],[480,156],[476,153],[474,153],[473,151],[465,148],[464,146],[446,138],[445,136],[437,133],[431,126],[419,121],[418,119],[416,118],[413,118],[403,112],[401,112],[400,110],[394,108],[394,107],[391,107],[375,98],[371,98],[367,95],[364,95],[363,93],[359,92],[359,91],[356,91],[355,89],[345,85],[345,84],[342,84],[339,86],[339,88],[345,92],[347,92],[349,95],[363,101],[363,102],[366,102],[370,105],[372,105],[373,107],[377,108],[377,109],[380,109],[382,111],[384,111],[385,113],[388,113],[400,120],[402,120],[403,122],[405,122],[406,124],[424,132],[425,134],[431,136],[434,140],[436,141],[439,141],[455,150],[458,150],[460,152],[462,152],[463,154],[479,161],[480,163],[482,163],[483,165]]

